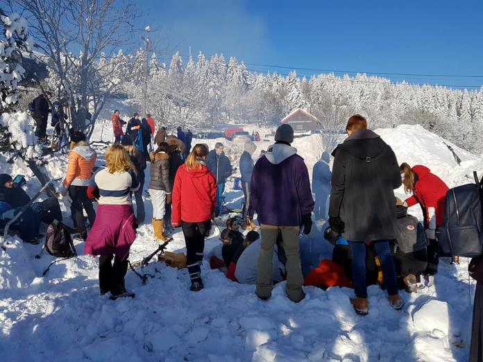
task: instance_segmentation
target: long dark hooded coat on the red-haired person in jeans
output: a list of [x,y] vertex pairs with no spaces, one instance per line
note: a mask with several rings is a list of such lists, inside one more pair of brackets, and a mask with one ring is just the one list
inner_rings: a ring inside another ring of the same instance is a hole
[[401,185],[393,150],[371,130],[359,130],[332,155],[329,216],[346,224],[350,241],[396,239],[396,199]]

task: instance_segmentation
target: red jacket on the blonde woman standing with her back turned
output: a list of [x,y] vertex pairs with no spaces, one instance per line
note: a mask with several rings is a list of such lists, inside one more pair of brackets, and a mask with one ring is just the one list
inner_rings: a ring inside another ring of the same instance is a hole
[[180,166],[173,185],[173,214],[171,223],[179,226],[181,221],[201,223],[211,220],[217,205],[217,180],[203,165],[201,170],[188,170]]

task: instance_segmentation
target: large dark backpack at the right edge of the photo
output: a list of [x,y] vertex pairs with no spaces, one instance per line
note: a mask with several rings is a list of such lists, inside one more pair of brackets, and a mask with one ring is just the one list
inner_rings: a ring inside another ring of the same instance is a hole
[[482,254],[483,190],[476,171],[473,175],[474,184],[464,184],[446,193],[444,225],[437,231],[442,256],[477,257]]

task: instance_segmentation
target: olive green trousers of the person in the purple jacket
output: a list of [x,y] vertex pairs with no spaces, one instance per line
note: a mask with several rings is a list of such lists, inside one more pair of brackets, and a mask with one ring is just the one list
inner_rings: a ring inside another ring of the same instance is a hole
[[293,302],[300,302],[305,297],[302,289],[303,275],[300,266],[300,249],[298,234],[300,227],[298,226],[273,226],[261,225],[262,232],[262,248],[258,257],[257,269],[257,295],[260,298],[269,298],[273,288],[272,280],[272,257],[273,248],[277,241],[278,230],[282,231],[283,247],[287,256],[287,286],[285,291],[287,296]]

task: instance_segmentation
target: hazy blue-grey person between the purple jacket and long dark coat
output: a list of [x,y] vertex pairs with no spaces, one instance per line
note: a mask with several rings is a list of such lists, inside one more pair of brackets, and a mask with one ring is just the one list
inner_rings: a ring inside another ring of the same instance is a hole
[[324,152],[321,160],[314,164],[312,170],[312,191],[315,193],[314,217],[317,220],[325,218],[325,205],[330,195],[332,172],[330,172],[329,162],[330,155]]

